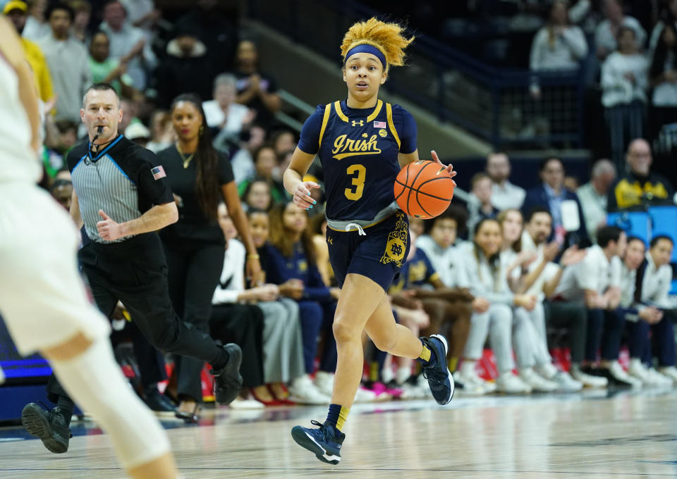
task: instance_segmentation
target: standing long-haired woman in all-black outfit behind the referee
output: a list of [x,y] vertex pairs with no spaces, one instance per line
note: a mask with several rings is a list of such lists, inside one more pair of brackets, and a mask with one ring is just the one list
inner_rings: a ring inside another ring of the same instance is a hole
[[[233,169],[228,158],[212,147],[212,137],[196,94],[181,94],[171,104],[171,121],[178,138],[157,156],[178,205],[177,223],[164,228],[161,238],[169,267],[169,294],[185,323],[209,332],[212,295],[224,266],[225,240],[216,210],[224,200],[247,248],[247,275],[257,280],[259,256],[240,205]],[[203,363],[178,358],[177,416],[195,421],[202,401],[200,371]]]

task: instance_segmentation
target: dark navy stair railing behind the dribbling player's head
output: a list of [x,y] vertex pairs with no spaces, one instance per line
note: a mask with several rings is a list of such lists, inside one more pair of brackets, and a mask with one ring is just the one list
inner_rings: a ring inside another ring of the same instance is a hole
[[[353,0],[250,0],[245,14],[337,63],[336,41],[350,25],[372,15],[388,19]],[[408,68],[394,70],[385,87],[495,148],[583,144],[584,88],[578,72],[495,68],[417,35]]]

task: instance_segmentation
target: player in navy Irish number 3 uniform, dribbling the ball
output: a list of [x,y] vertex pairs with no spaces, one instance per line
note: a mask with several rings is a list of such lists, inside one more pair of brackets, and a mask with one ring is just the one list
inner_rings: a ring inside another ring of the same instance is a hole
[[403,64],[403,49],[413,41],[402,30],[375,18],[350,27],[341,45],[348,98],[319,106],[306,120],[283,178],[303,209],[313,207],[310,189],[319,187],[303,181],[315,154],[327,179],[327,244],[341,287],[334,316],[338,365],[327,421],[295,426],[291,434],[329,464],[341,461],[343,425],[362,377],[363,330],[382,351],[418,359],[439,404],[453,396],[444,337],[419,340],[396,324],[386,297],[409,250],[408,219],[394,202],[393,185],[401,167],[419,159],[412,116],[378,98],[389,66]]

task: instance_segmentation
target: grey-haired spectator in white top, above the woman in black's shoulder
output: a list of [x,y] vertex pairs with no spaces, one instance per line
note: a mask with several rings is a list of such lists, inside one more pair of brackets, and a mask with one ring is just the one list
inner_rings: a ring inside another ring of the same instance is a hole
[[[237,140],[243,125],[250,123],[253,112],[244,105],[237,104],[237,79],[234,75],[221,73],[214,79],[213,100],[202,102],[207,115],[207,125],[218,128],[219,135],[227,135]],[[219,141],[219,140],[215,140]]]

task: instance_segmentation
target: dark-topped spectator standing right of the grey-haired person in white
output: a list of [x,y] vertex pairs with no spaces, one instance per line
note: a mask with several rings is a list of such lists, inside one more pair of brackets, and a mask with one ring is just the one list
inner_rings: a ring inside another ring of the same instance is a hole
[[238,78],[236,101],[256,111],[256,121],[270,129],[275,123],[274,114],[280,109],[275,80],[259,70],[259,54],[251,40],[238,44],[235,75]]

